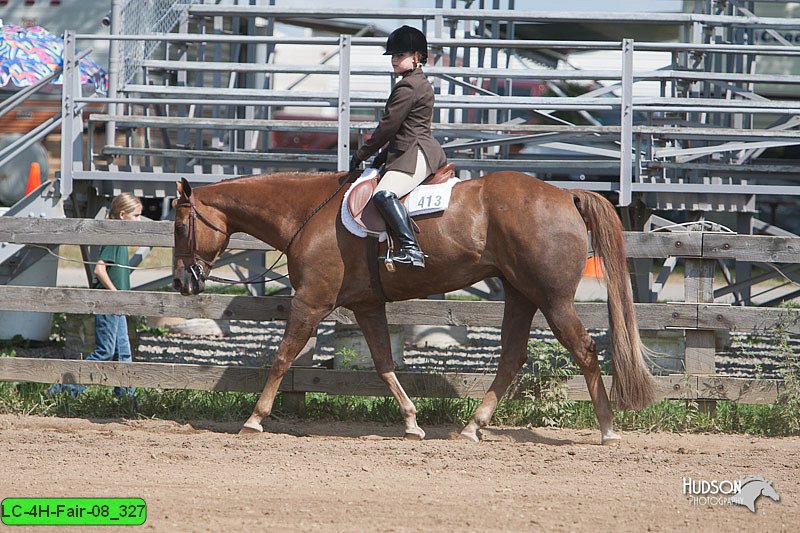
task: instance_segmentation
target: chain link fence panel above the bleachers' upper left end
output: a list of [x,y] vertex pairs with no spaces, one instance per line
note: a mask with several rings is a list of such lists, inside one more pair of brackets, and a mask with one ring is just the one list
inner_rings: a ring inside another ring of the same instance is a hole
[[[202,0],[128,0],[122,6],[123,35],[145,35],[167,33],[186,16],[189,6],[202,3]],[[122,41],[120,57],[122,66],[120,82],[131,81],[141,67],[161,43],[157,41]]]

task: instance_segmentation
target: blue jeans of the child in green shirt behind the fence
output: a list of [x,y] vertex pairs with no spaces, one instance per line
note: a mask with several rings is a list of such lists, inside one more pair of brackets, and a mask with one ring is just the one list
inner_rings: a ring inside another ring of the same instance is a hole
[[[131,342],[128,338],[128,322],[124,315],[95,315],[94,342],[95,349],[89,354],[86,361],[116,359],[121,363],[131,362]],[[50,392],[54,394],[63,391],[75,397],[85,388],[84,385],[56,384],[50,387]],[[136,391],[133,388],[114,387],[114,396],[134,396],[135,394]]]

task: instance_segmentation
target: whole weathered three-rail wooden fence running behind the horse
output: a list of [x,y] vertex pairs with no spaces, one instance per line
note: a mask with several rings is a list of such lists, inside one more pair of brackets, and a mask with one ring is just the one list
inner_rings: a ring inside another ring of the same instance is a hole
[[[115,220],[37,219],[0,217],[0,242],[16,244],[123,244],[171,247],[171,222],[127,223]],[[714,264],[718,259],[750,262],[800,263],[800,238],[717,233],[626,234],[631,258],[686,258],[685,302],[636,304],[642,330],[685,331],[685,374],[661,376],[662,398],[731,399],[747,403],[772,402],[780,393],[777,380],[725,378],[714,375],[715,330],[760,332],[780,328],[800,333],[800,311],[786,308],[736,307],[713,303]],[[246,235],[235,235],[230,249],[269,250]],[[121,313],[183,318],[285,320],[290,297],[184,297],[169,292],[110,292],[92,289],[0,285],[0,310]],[[502,321],[502,302],[410,300],[387,304],[390,324],[496,326]],[[608,327],[605,303],[577,304],[588,329]],[[328,318],[354,323],[344,309]],[[537,315],[534,327],[547,325]],[[265,368],[165,363],[97,363],[92,361],[0,358],[0,380],[41,383],[73,382],[158,388],[258,391]],[[424,374],[399,372],[413,396],[480,397],[491,383],[485,374]],[[583,379],[567,383],[570,396],[588,399]],[[384,395],[374,372],[294,368],[282,384],[285,392]]]

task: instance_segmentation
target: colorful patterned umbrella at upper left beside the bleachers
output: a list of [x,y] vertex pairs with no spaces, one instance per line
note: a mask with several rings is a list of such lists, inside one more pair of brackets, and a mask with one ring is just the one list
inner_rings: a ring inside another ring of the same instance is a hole
[[[14,24],[0,26],[0,87],[13,82],[17,87],[27,87],[52,74],[62,65],[64,41],[44,28],[23,28]],[[94,85],[101,94],[108,92],[108,75],[93,60],[81,60],[81,83]],[[53,80],[62,83],[59,74]]]

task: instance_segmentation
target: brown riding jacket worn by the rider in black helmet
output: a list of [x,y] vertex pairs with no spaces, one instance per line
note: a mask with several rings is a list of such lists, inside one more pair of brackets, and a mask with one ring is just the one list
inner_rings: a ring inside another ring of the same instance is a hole
[[389,143],[386,170],[413,174],[417,167],[417,147],[425,154],[432,171],[444,166],[447,157],[431,134],[433,102],[433,88],[422,68],[417,67],[394,86],[378,127],[356,156],[364,161]]

